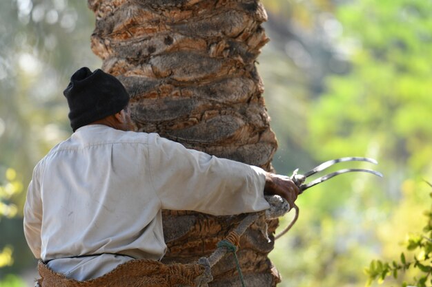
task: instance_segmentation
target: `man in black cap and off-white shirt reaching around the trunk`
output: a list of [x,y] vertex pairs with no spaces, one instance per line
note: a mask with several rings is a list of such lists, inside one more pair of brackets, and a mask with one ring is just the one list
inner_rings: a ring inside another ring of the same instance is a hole
[[234,215],[293,204],[288,177],[132,130],[129,95],[83,67],[63,92],[74,134],[35,167],[24,231],[35,257],[68,278],[100,277],[132,259],[164,256],[161,209]]

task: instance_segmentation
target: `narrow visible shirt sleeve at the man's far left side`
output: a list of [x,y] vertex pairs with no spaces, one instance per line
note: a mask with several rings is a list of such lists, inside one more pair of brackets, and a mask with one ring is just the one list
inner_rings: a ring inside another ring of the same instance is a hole
[[33,171],[33,177],[28,186],[26,204],[24,205],[24,235],[26,235],[27,244],[33,255],[40,259],[42,200],[38,167],[35,167]]

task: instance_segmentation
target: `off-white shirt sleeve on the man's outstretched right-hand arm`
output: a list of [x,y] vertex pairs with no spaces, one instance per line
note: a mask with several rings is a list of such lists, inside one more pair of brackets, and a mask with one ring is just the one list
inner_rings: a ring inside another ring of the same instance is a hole
[[149,135],[150,174],[162,209],[235,215],[268,209],[265,171]]

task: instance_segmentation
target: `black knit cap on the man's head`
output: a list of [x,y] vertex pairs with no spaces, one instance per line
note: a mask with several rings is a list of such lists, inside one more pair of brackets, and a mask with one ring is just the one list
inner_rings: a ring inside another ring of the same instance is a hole
[[68,100],[73,131],[118,113],[129,102],[128,92],[115,76],[100,69],[92,72],[88,67],[81,67],[70,77],[63,95]]

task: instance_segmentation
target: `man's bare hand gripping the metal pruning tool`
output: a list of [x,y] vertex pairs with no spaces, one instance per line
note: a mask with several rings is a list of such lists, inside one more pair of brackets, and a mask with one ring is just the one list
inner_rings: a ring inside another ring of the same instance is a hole
[[266,173],[264,193],[267,195],[279,195],[282,198],[285,198],[285,200],[288,201],[290,208],[292,208],[297,199],[297,195],[300,193],[300,189],[288,176]]

